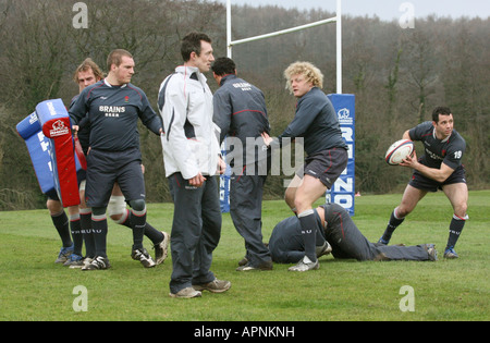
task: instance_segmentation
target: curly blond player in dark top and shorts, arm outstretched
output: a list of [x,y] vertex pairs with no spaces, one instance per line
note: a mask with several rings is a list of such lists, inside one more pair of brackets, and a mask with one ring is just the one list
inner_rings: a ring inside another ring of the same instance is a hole
[[291,271],[319,268],[315,254],[317,231],[322,230],[316,220],[313,204],[324,196],[347,166],[347,145],[342,138],[335,110],[323,87],[323,74],[309,62],[292,63],[284,76],[287,87],[298,99],[296,113],[286,130],[277,138],[267,133],[262,137],[272,148],[282,146],[283,138],[303,137],[307,158],[304,167],[285,192],[285,201],[297,213],[302,224],[305,256],[291,267]]

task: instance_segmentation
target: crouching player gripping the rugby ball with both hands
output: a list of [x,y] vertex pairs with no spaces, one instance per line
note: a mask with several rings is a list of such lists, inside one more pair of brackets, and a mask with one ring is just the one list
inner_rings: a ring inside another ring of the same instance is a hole
[[405,188],[402,203],[391,213],[387,230],[379,243],[388,244],[390,242],[394,230],[428,192],[442,189],[454,210],[444,258],[458,257],[454,252],[454,246],[468,219],[466,213],[468,187],[465,169],[462,164],[466,142],[453,127],[454,120],[451,110],[446,107],[438,107],[432,112],[432,122],[424,122],[403,134],[403,139],[422,142],[426,154],[417,160],[414,151],[412,157],[407,157],[400,164],[414,169],[414,174]]

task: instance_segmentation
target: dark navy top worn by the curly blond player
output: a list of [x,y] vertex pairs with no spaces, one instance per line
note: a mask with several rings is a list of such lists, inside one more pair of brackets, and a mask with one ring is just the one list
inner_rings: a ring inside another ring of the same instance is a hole
[[284,137],[304,137],[308,155],[333,148],[348,149],[332,102],[318,87],[313,87],[297,101],[293,121],[278,137],[281,146]]

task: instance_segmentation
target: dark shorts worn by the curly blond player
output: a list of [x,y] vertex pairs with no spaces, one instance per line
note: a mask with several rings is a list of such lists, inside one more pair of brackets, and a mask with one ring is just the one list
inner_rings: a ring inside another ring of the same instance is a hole
[[347,167],[348,152],[344,148],[321,150],[305,159],[305,164],[296,171],[301,179],[305,174],[317,177],[327,188],[331,188]]

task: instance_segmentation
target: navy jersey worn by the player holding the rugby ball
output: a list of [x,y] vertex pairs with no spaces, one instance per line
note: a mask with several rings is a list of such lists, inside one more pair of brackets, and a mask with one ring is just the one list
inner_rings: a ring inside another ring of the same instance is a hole
[[455,130],[451,136],[441,140],[436,137],[432,122],[427,121],[409,130],[408,134],[412,140],[424,143],[425,154],[420,158],[420,163],[436,169],[440,169],[442,162],[451,169],[462,166],[466,142]]

